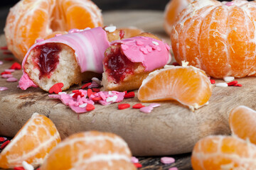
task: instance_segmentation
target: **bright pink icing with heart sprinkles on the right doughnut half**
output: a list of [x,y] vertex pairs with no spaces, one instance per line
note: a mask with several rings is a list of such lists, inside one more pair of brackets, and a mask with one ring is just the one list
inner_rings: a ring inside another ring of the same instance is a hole
[[134,37],[116,40],[111,45],[121,44],[124,55],[132,62],[142,62],[145,71],[163,67],[169,61],[170,47],[161,40],[149,37]]

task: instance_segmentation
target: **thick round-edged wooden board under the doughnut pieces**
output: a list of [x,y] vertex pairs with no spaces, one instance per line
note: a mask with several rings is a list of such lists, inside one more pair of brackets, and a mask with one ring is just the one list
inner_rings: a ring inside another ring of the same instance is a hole
[[[105,23],[116,26],[137,26],[169,41],[162,28],[163,14],[152,11],[116,11],[104,13]],[[0,46],[5,45],[1,36]],[[1,53],[1,52],[0,52]],[[6,55],[0,56],[0,60]],[[13,62],[0,65],[0,72]],[[21,71],[14,72],[21,77]],[[60,101],[48,98],[41,89],[17,89],[18,82],[7,83],[0,79],[0,135],[14,136],[34,112],[48,116],[55,123],[61,137],[85,130],[114,132],[127,141],[134,156],[171,155],[191,152],[193,145],[207,135],[229,134],[228,113],[235,106],[245,105],[256,108],[254,101],[255,77],[238,79],[242,87],[213,87],[208,106],[190,111],[178,102],[161,102],[149,114],[132,108],[119,111],[118,103],[110,106],[96,105],[90,113],[76,114]],[[223,82],[223,80],[217,80]],[[78,89],[73,86],[69,91]],[[138,103],[137,97],[125,99],[122,103]],[[149,105],[149,103],[145,103]]]

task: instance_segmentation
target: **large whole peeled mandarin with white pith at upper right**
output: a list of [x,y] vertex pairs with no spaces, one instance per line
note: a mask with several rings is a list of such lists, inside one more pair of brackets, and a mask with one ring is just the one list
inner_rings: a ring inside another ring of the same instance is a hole
[[256,74],[256,1],[193,1],[171,30],[171,45],[182,60],[211,77]]

